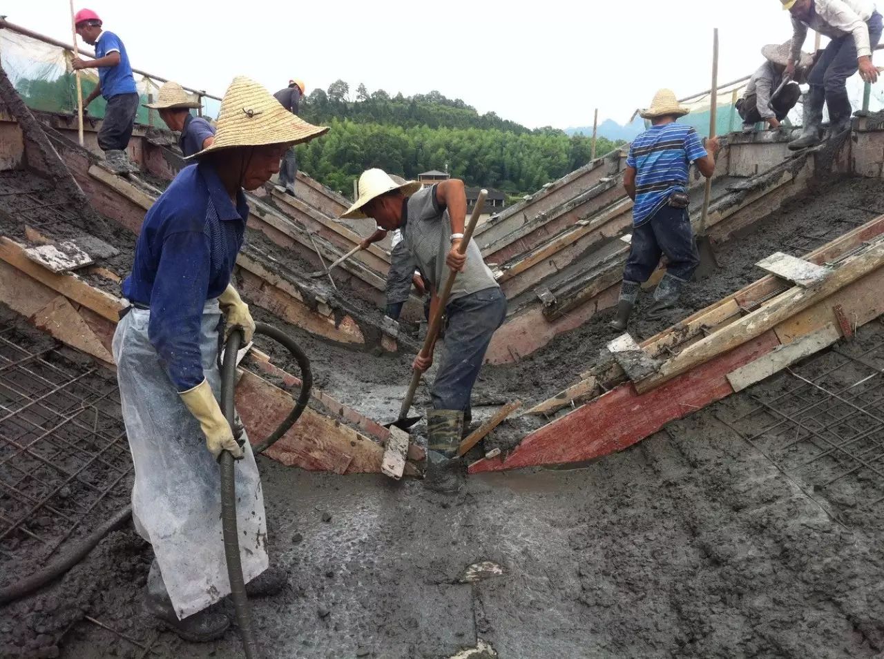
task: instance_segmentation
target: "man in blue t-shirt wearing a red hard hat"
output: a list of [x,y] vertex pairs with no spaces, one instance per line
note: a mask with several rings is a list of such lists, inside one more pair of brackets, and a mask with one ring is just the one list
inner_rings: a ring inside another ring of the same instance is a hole
[[102,29],[102,19],[91,9],[81,9],[74,16],[80,39],[95,46],[95,59],[73,58],[73,70],[97,68],[98,86],[83,102],[83,108],[102,95],[107,101],[102,128],[98,132],[98,146],[104,152],[108,169],[117,174],[137,170],[126,156],[129,138],[138,110],[138,89],[126,55],[126,46],[112,32]]

